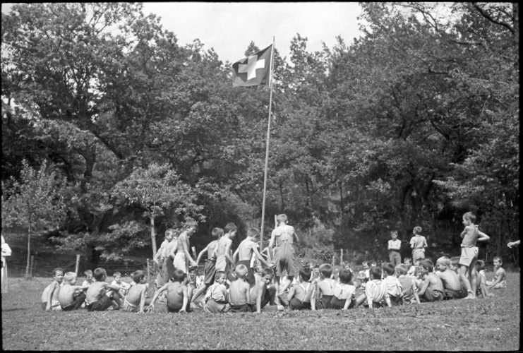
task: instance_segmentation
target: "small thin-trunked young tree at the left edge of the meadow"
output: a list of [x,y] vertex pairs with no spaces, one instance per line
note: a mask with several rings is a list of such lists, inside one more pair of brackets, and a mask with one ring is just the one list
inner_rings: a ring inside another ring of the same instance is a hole
[[44,162],[35,170],[22,161],[20,181],[2,182],[2,227],[19,225],[28,229],[28,262],[25,277],[29,277],[31,234],[39,234],[60,227],[65,216],[64,199],[60,187],[64,181],[56,172],[47,170]]

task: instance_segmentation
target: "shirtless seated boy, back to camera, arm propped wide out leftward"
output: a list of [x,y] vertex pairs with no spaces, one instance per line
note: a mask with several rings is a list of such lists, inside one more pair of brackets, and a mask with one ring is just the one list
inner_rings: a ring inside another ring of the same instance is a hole
[[185,273],[182,270],[174,270],[171,279],[162,287],[156,289],[152,296],[151,304],[147,307],[148,311],[155,309],[155,301],[164,291],[167,291],[167,312],[186,313],[188,307],[187,286],[184,285]]

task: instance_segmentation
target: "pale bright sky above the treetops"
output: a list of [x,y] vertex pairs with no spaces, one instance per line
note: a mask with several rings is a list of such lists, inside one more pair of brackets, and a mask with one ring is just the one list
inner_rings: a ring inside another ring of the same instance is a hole
[[[2,12],[11,5],[2,4]],[[251,41],[263,49],[275,37],[275,48],[288,58],[296,33],[308,39],[308,52],[320,51],[322,42],[334,47],[337,35],[347,44],[360,35],[356,2],[145,2],[143,11],[160,16],[179,44],[198,38],[203,49],[231,63],[244,58]]]

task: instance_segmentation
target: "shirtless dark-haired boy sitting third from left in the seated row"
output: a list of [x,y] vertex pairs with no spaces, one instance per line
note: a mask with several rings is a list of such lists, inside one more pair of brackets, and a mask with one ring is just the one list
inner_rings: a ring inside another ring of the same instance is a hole
[[93,277],[95,282],[89,286],[85,298],[85,307],[88,311],[104,311],[109,309],[109,306],[114,310],[120,309],[122,301],[119,294],[120,287],[105,282],[107,278],[105,269],[96,268]]

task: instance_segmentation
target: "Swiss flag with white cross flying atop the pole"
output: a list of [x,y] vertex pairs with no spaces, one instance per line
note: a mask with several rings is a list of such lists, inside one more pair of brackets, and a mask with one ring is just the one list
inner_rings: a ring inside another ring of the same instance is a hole
[[232,64],[232,85],[267,85],[270,75],[272,44]]

